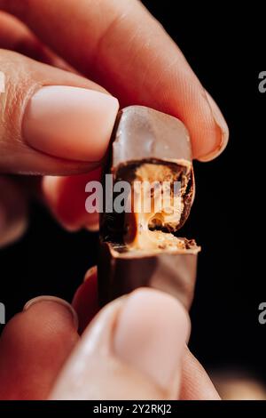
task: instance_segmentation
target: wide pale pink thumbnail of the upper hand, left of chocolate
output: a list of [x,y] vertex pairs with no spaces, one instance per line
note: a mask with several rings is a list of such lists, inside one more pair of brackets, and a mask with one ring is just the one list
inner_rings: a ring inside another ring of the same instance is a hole
[[51,156],[96,162],[106,153],[118,109],[118,100],[103,92],[45,86],[27,104],[23,136]]

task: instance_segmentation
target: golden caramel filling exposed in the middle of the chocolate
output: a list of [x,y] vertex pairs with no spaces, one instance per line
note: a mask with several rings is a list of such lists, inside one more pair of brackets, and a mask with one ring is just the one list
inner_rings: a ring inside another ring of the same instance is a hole
[[132,250],[185,249],[184,240],[171,233],[184,210],[184,190],[176,173],[167,165],[146,163],[137,167],[135,174],[131,212],[125,213],[125,244]]

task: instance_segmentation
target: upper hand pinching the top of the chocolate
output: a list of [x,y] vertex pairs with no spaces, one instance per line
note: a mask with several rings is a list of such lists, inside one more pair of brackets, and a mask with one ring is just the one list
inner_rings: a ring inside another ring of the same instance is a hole
[[32,195],[67,229],[97,228],[84,185],[99,178],[118,109],[106,89],[121,106],[182,119],[194,158],[207,161],[226,146],[215,101],[139,2],[0,0],[0,9],[10,13],[0,12],[0,245],[25,230]]

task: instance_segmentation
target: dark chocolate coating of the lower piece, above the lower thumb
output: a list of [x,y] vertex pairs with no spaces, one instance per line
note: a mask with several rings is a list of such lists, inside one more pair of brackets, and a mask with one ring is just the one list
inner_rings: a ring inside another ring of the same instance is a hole
[[186,309],[192,304],[197,272],[195,246],[186,253],[132,254],[124,258],[115,245],[102,242],[99,249],[98,291],[100,306],[140,286],[167,292]]

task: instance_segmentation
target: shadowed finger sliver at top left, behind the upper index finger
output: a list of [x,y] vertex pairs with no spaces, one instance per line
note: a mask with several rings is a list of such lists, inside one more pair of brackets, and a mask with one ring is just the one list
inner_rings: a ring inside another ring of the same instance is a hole
[[54,67],[70,69],[70,66],[42,44],[26,25],[5,12],[0,12],[0,48],[20,52]]

